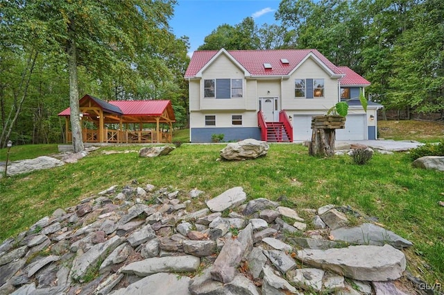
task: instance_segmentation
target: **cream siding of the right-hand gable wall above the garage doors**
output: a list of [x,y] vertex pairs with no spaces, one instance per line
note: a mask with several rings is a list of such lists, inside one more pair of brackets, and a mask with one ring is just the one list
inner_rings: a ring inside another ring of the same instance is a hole
[[[315,99],[296,99],[294,96],[295,79],[323,78],[324,96]],[[287,80],[282,81],[282,108],[284,110],[323,110],[326,111],[338,102],[338,79],[330,78],[314,60],[308,58]]]

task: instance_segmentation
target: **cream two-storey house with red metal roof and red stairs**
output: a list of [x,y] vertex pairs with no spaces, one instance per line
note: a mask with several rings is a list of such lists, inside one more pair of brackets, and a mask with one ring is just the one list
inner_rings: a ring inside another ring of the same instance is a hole
[[[376,111],[359,103],[368,81],[336,67],[316,49],[195,51],[185,72],[189,81],[191,142],[255,138],[268,142],[311,139],[311,117],[350,99],[338,140],[376,138]],[[355,98],[357,100],[355,100]]]

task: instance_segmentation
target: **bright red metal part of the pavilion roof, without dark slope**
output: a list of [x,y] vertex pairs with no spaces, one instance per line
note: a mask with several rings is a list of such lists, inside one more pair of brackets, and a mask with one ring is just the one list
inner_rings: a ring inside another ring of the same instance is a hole
[[[85,95],[88,96],[88,95]],[[83,96],[83,99],[85,99]],[[88,96],[92,97],[92,96]],[[94,98],[95,99],[95,98]],[[94,101],[99,100],[95,99]],[[81,101],[81,100],[80,100]],[[173,106],[171,105],[171,101],[167,100],[152,100],[152,101],[102,101],[103,103],[100,106],[111,105],[114,108],[121,110],[122,115],[128,116],[160,116],[163,114],[165,110],[167,110],[169,118],[171,120],[176,120],[174,116]],[[71,115],[71,108],[67,108],[58,114],[59,116],[69,116]]]

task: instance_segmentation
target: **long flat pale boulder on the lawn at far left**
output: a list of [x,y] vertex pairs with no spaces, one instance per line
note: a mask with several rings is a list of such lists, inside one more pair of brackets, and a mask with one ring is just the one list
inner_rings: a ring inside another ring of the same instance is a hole
[[35,170],[50,169],[62,165],[65,165],[65,162],[62,162],[56,158],[42,155],[41,157],[37,157],[35,159],[19,160],[10,163],[10,165],[8,165],[8,175],[14,176],[17,174],[28,173]]

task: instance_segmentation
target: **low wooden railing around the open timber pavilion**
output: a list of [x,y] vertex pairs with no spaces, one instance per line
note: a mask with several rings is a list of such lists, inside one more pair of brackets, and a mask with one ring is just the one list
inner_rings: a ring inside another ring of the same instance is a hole
[[[161,143],[172,142],[172,137],[169,132],[160,132],[160,138],[157,140],[156,130],[103,130],[103,142],[106,143]],[[83,142],[100,142],[99,130],[83,129]],[[72,134],[68,132],[67,142],[72,142]]]

